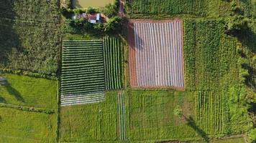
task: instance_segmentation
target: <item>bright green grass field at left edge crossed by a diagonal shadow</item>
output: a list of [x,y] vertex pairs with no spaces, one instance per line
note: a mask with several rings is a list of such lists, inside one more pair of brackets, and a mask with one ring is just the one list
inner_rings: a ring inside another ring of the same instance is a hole
[[0,102],[22,106],[56,108],[57,82],[50,79],[0,74],[8,84],[0,85]]

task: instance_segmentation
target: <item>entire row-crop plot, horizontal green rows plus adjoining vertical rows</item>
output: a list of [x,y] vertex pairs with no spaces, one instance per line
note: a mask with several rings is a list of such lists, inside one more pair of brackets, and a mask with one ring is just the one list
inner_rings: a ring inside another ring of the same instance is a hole
[[101,102],[122,87],[122,43],[116,38],[63,41],[61,97],[65,104]]

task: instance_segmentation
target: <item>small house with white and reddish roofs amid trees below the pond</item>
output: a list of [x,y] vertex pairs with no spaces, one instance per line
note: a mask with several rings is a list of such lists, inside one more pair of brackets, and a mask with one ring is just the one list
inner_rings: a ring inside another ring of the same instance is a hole
[[96,24],[96,23],[102,23],[101,21],[101,14],[74,14],[73,19],[88,19],[88,22],[91,24]]

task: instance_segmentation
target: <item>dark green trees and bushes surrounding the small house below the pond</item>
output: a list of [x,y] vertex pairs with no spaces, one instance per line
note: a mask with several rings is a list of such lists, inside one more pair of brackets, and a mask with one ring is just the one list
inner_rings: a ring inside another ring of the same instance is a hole
[[[114,4],[106,5],[104,9],[94,9],[91,7],[87,9],[73,9],[71,0],[67,0],[66,3],[67,6],[61,9],[63,16],[65,16],[65,23],[63,25],[64,33],[104,32],[106,34],[116,34],[122,31],[122,26],[127,22],[126,19],[121,19],[117,16],[118,0],[115,0]],[[106,23],[91,24],[83,18],[72,19],[73,14],[95,14],[100,12],[109,18]]]

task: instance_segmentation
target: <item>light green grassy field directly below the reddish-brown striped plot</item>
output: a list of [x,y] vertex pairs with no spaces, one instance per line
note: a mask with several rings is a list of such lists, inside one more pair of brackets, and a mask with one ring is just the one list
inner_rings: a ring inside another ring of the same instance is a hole
[[[142,91],[127,92],[129,100],[129,140],[187,139],[196,137],[193,122],[193,95],[190,92]],[[128,106],[128,105],[127,105]],[[180,107],[183,117],[174,115]]]

